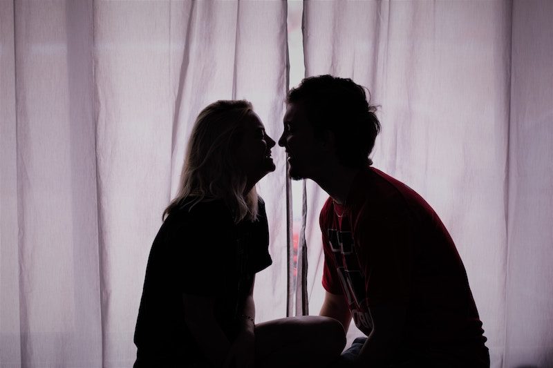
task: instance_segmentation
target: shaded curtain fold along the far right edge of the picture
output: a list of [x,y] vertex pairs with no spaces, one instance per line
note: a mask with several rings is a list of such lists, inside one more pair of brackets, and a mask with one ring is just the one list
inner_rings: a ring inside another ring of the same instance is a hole
[[505,367],[553,367],[553,2],[514,1]]

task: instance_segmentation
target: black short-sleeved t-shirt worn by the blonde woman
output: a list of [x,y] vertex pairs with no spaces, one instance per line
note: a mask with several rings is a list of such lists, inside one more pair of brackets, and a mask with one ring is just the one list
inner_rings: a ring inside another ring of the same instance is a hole
[[272,263],[268,245],[261,199],[255,222],[234,224],[223,200],[173,211],[151,246],[134,336],[135,367],[186,367],[200,358],[185,325],[182,294],[214,297],[216,321],[234,340],[254,275]]

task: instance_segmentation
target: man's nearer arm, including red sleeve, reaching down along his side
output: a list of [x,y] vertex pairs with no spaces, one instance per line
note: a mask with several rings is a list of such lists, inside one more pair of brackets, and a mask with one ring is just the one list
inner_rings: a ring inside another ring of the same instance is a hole
[[357,239],[365,246],[368,268],[364,271],[373,328],[357,357],[357,367],[387,367],[404,340],[409,304],[411,249],[414,235],[406,209],[390,206],[377,218],[364,219],[371,231]]

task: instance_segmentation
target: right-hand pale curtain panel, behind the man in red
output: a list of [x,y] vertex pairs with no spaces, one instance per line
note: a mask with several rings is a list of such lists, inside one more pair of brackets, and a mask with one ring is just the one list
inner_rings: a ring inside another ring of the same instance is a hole
[[[304,4],[306,75],[371,90],[382,122],[374,166],[418,191],[451,232],[491,366],[553,367],[553,2]],[[317,314],[327,195],[310,181],[306,195]]]

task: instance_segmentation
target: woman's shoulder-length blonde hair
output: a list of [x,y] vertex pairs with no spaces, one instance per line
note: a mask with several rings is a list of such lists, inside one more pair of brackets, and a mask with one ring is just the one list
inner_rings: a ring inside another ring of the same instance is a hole
[[164,220],[185,204],[191,203],[191,209],[199,202],[211,200],[224,200],[235,223],[244,218],[256,220],[256,189],[244,194],[246,176],[234,157],[241,123],[251,113],[252,104],[245,100],[216,101],[200,112],[188,141],[178,192],[163,211]]

